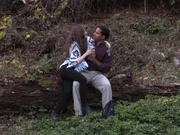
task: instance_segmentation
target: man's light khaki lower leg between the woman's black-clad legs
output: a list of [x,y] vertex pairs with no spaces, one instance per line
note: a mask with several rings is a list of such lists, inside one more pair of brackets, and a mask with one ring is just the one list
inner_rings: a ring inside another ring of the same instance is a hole
[[74,100],[74,111],[75,115],[83,115],[81,107],[81,97],[79,94],[79,82],[73,81],[73,100]]

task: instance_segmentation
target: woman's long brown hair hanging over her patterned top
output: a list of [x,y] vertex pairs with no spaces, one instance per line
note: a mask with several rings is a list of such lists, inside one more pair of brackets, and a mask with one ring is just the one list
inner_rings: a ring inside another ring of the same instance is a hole
[[87,50],[87,39],[85,36],[85,30],[81,26],[74,26],[71,30],[69,37],[66,40],[66,58],[70,57],[69,48],[71,44],[76,41],[79,44],[81,54],[84,54]]

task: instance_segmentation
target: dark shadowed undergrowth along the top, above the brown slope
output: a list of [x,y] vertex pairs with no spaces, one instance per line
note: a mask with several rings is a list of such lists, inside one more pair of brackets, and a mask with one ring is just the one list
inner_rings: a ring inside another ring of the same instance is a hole
[[[18,12],[25,5],[41,3],[47,13],[52,13],[57,8],[63,7],[62,3],[67,3],[64,16],[71,17],[74,20],[85,19],[93,14],[100,12],[115,11],[123,8],[143,9],[144,12],[151,10],[170,10],[170,12],[179,13],[179,0],[6,0],[0,5],[1,15],[4,12]],[[35,7],[32,7],[35,8]]]

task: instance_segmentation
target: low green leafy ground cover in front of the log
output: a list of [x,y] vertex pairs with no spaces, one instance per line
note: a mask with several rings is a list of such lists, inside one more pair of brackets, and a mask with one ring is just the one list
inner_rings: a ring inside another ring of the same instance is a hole
[[147,96],[135,103],[119,101],[115,116],[102,119],[101,113],[79,118],[70,116],[53,120],[47,114],[41,119],[19,118],[2,128],[2,135],[179,135],[180,96]]

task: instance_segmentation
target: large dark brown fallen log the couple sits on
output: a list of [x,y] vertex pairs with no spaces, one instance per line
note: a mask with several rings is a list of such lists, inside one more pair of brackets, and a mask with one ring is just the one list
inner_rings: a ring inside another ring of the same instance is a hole
[[[131,75],[117,74],[109,78],[113,99],[130,102],[146,95],[173,96],[180,93],[179,85],[143,86],[134,84]],[[25,83],[20,78],[0,80],[0,115],[19,114],[45,107],[51,110],[62,92],[62,80],[57,74],[48,74],[35,82]],[[101,106],[101,93],[89,87],[88,101],[91,106]]]

